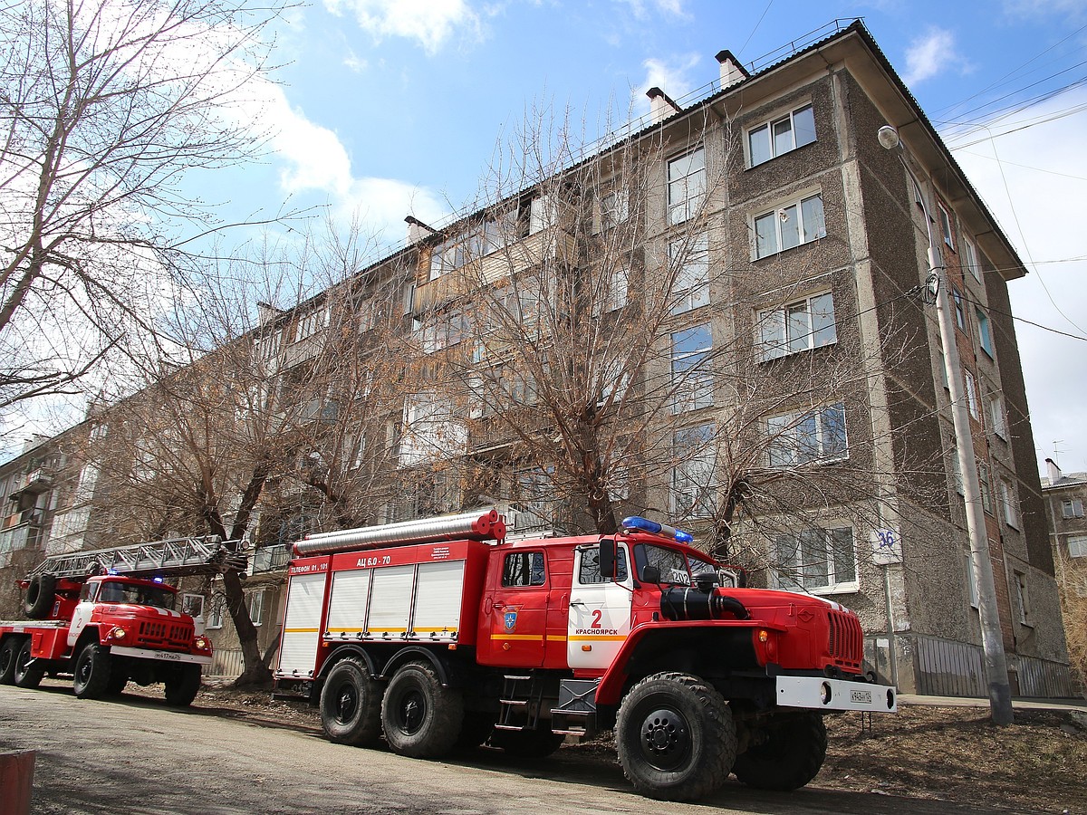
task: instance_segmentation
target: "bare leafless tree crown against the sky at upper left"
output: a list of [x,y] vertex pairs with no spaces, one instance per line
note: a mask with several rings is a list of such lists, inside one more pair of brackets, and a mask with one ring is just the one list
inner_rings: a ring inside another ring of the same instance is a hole
[[282,8],[0,9],[0,410],[71,392],[153,337],[188,241],[215,227],[183,179],[261,149],[237,91],[267,73],[262,36]]

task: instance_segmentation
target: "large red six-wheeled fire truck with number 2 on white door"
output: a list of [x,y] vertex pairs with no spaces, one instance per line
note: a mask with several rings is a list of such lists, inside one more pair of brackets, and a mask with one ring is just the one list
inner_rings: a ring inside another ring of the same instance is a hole
[[539,757],[614,729],[634,787],[662,800],[808,783],[823,714],[895,712],[862,674],[844,606],[729,585],[691,536],[505,541],[495,511],[311,535],[288,568],[275,692],[336,742],[438,757],[489,740]]

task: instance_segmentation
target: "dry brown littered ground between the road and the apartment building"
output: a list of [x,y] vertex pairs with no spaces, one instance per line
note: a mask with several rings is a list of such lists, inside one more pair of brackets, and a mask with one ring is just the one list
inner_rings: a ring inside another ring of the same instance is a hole
[[[129,693],[141,689],[129,686]],[[158,695],[153,689],[151,694]],[[320,729],[308,705],[257,690],[204,688],[196,704],[272,726]],[[827,718],[830,747],[812,786],[954,802],[1000,812],[1087,814],[1087,715],[1016,710],[994,727],[982,707],[900,705],[898,715]],[[615,762],[607,737],[566,745],[576,761]]]

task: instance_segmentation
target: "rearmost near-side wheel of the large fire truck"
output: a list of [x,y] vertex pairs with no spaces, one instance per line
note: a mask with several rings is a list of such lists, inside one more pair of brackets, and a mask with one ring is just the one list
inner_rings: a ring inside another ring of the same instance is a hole
[[373,747],[382,737],[382,684],[365,663],[340,660],[321,688],[321,726],[339,744]]

